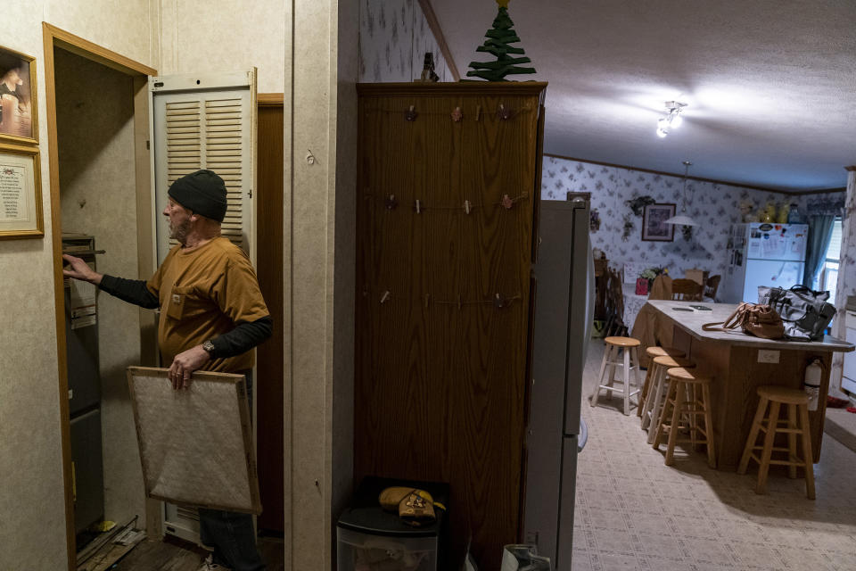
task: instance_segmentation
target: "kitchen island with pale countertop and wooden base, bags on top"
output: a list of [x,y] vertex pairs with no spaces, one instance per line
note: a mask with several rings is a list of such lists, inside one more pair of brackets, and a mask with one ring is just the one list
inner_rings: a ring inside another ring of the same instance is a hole
[[[824,337],[818,342],[761,339],[739,327],[704,331],[705,323],[721,323],[737,309],[734,303],[649,301],[660,319],[673,327],[671,345],[694,360],[699,372],[711,377],[713,440],[717,468],[734,469],[740,462],[746,437],[758,407],[757,387],[778,385],[802,389],[806,366],[814,358],[823,365],[818,409],[809,412],[811,451],[820,458],[823,421],[827,409],[829,368],[833,352],[851,352],[852,343]],[[697,310],[692,306],[709,307]]]

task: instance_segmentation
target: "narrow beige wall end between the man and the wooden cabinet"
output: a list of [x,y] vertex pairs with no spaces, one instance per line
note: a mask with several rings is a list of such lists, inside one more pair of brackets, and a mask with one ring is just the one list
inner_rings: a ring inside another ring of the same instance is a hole
[[330,569],[333,525],[353,474],[358,6],[321,0],[293,9],[285,54],[286,125],[292,113],[284,201],[284,282],[292,300],[284,316],[292,538],[285,567]]

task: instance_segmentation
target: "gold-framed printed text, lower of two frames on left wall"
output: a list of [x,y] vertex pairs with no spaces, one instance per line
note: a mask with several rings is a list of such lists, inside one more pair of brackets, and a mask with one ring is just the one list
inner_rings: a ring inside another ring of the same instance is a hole
[[0,239],[45,236],[40,173],[38,147],[0,142]]

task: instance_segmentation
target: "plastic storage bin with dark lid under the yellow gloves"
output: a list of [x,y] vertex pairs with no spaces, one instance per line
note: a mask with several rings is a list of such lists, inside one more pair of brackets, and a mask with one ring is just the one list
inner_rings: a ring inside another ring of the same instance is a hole
[[391,485],[413,486],[449,505],[449,486],[407,480],[366,477],[353,504],[336,525],[339,571],[438,571],[444,568],[445,512],[435,509],[432,525],[412,527],[397,514],[383,511],[377,496]]

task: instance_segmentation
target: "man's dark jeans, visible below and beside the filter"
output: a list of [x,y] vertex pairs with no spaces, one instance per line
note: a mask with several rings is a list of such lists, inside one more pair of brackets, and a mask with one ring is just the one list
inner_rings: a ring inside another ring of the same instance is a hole
[[[243,371],[247,379],[247,399],[252,410],[252,375]],[[214,549],[214,563],[231,567],[235,571],[260,571],[265,568],[256,549],[256,533],[250,514],[239,514],[222,509],[199,510],[200,539]]]

